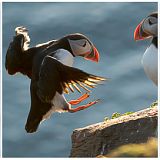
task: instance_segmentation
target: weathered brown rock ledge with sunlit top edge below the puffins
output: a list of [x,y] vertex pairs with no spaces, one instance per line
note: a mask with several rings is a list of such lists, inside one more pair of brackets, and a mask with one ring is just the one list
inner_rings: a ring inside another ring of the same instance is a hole
[[157,107],[79,128],[72,134],[70,157],[96,157],[129,143],[144,143],[155,137]]

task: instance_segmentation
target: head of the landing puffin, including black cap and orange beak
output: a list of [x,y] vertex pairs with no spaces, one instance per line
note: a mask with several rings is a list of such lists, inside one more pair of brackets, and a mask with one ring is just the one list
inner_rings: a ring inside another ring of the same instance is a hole
[[86,60],[99,61],[99,53],[93,43],[83,34],[69,34],[63,39],[67,40],[69,51],[73,56],[82,56]]

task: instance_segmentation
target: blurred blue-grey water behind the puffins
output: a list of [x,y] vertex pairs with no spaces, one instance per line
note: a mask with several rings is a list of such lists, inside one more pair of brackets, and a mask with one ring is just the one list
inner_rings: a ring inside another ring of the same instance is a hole
[[[136,26],[156,10],[157,3],[3,3],[3,156],[68,157],[74,129],[103,121],[113,112],[147,108],[157,100],[157,87],[141,65],[150,40],[133,39]],[[74,32],[89,37],[99,50],[100,62],[76,58],[74,66],[111,78],[88,100],[100,98],[101,103],[75,114],[54,113],[37,133],[27,134],[30,80],[21,74],[10,76],[4,67],[14,29],[21,25],[29,30],[31,46]]]

